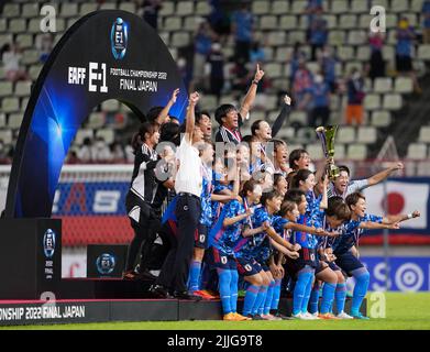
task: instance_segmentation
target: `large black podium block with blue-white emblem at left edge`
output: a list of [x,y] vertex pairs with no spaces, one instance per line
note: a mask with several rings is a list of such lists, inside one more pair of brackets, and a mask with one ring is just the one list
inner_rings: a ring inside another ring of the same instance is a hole
[[58,294],[60,219],[0,219],[0,299],[41,299]]

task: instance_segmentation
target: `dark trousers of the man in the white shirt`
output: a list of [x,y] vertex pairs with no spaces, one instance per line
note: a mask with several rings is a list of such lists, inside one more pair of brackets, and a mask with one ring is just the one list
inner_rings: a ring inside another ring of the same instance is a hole
[[172,241],[173,246],[156,280],[158,285],[176,292],[187,290],[189,264],[192,258],[195,233],[200,212],[200,199],[198,197],[188,194],[179,196],[175,209],[177,241]]

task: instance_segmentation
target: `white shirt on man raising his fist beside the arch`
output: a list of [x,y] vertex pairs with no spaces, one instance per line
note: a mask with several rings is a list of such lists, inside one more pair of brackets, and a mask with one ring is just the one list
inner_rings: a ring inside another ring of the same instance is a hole
[[200,198],[203,183],[202,164],[199,151],[187,141],[186,136],[183,138],[176,151],[176,160],[179,161],[179,169],[175,179],[176,193],[188,193]]

